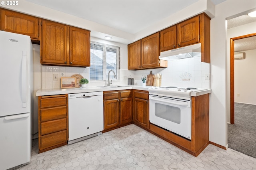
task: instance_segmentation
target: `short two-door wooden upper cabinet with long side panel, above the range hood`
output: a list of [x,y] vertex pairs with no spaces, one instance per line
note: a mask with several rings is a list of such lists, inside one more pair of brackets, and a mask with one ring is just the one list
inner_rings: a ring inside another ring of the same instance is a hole
[[160,31],[160,51],[201,43],[201,61],[210,63],[210,18],[202,13]]

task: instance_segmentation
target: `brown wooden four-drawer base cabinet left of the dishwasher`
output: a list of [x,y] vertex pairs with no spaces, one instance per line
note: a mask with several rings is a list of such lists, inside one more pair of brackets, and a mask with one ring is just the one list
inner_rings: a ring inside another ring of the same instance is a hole
[[68,141],[68,95],[38,97],[39,153]]

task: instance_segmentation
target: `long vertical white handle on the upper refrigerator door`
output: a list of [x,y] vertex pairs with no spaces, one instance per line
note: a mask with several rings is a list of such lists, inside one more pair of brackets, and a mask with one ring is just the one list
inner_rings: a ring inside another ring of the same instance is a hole
[[27,87],[26,87],[26,72],[27,72],[27,52],[22,51],[22,68],[21,68],[21,97],[22,107],[27,107]]

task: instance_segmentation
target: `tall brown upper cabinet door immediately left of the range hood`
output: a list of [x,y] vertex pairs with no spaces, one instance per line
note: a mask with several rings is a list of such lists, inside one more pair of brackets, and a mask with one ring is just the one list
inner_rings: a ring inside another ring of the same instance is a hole
[[156,67],[159,65],[159,32],[141,40],[141,65],[142,68]]

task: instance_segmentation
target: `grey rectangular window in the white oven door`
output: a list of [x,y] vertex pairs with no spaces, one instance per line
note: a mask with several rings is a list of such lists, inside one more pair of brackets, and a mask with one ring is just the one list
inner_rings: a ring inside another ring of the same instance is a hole
[[167,121],[180,124],[180,108],[178,107],[156,103],[155,115]]

